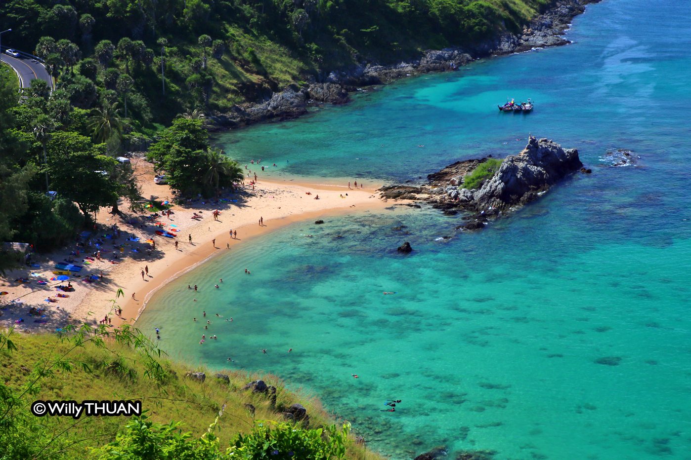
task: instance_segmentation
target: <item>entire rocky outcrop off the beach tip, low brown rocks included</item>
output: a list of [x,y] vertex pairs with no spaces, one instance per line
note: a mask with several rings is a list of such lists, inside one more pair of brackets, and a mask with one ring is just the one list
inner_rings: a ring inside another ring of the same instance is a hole
[[[538,199],[558,181],[583,168],[575,148],[562,148],[551,139],[530,137],[517,155],[509,155],[495,169],[486,168],[477,186],[464,187],[468,177],[490,157],[457,161],[429,174],[427,183],[416,186],[386,186],[379,189],[382,199],[413,200],[442,210],[444,214],[464,213],[464,223],[457,228],[477,230],[491,219]],[[494,161],[498,163],[498,161]],[[417,206],[408,203],[409,206]]]

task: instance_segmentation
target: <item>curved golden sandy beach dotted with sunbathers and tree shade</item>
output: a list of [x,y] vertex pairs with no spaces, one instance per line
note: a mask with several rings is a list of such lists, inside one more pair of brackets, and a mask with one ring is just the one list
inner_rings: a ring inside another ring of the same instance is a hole
[[[150,163],[133,160],[133,168],[142,197],[172,201],[174,195],[168,186],[153,183]],[[98,228],[81,238],[82,245],[74,241],[51,254],[34,254],[33,266],[0,277],[0,290],[8,292],[0,298],[0,327],[55,331],[66,324],[96,324],[108,315],[113,326],[132,323],[156,290],[210,257],[290,223],[389,206],[375,193],[379,185],[370,183],[358,189],[353,185],[349,189],[347,182],[343,186],[320,185],[291,179],[269,181],[259,176],[254,191],[246,185],[221,201],[200,199],[173,206],[169,217],[133,213],[126,202],[120,203],[122,215],[103,208],[97,214]],[[217,219],[214,210],[220,212]],[[195,214],[198,217],[194,218]],[[263,219],[262,225],[259,219]],[[176,237],[155,234],[156,230]],[[231,238],[230,230],[237,232],[237,237]],[[68,280],[55,279],[60,276],[55,273],[60,271],[55,264],[71,260],[82,270],[71,273]],[[74,290],[57,289],[67,283]],[[118,289],[124,292],[124,297],[117,299],[122,317],[113,310]]]

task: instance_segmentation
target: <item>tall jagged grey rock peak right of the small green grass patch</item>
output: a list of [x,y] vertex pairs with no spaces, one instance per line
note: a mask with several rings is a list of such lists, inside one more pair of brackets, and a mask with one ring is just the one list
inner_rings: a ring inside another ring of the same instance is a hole
[[502,162],[491,179],[473,194],[475,208],[507,209],[525,204],[567,174],[583,166],[575,148],[563,149],[548,139],[530,137],[526,148]]

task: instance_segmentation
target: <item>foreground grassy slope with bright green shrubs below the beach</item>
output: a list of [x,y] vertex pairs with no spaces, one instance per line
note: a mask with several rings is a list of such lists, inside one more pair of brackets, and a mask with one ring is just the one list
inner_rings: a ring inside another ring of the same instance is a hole
[[[189,368],[130,326],[0,330],[0,363],[1,460],[363,458],[348,423],[337,427],[318,401],[287,392],[278,378],[261,377],[276,386],[275,404],[240,390],[254,374],[224,372],[226,382],[206,370],[204,382],[185,378]],[[141,400],[145,413],[75,420],[29,410],[33,401],[70,399]],[[308,427],[281,415],[298,402],[310,414]]]

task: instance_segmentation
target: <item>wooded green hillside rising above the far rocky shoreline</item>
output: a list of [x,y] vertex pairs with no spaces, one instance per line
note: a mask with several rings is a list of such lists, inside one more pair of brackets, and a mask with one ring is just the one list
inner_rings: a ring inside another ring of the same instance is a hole
[[[120,101],[138,139],[360,61],[518,31],[550,0],[9,0],[7,46],[46,60],[66,99]],[[139,134],[136,134],[139,133]]]

